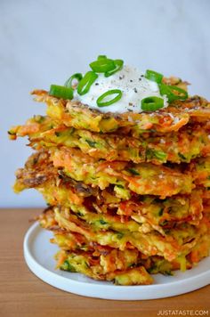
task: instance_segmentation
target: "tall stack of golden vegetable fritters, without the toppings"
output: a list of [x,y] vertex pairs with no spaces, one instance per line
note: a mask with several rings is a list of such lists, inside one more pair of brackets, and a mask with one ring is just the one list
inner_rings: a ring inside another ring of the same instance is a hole
[[101,113],[35,91],[46,117],[9,131],[36,152],[14,190],[40,191],[57,266],[121,285],[190,269],[210,246],[210,104]]

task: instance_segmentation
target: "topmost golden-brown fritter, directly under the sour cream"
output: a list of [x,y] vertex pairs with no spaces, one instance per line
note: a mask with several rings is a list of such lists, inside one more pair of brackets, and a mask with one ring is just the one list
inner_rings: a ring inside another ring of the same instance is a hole
[[87,105],[77,101],[64,101],[35,90],[37,102],[46,102],[47,114],[66,126],[85,128],[94,132],[113,132],[120,127],[138,126],[142,130],[154,129],[158,132],[178,131],[187,125],[190,119],[208,121],[210,104],[200,97],[192,97],[185,102],[174,102],[164,110],[154,112],[102,113],[91,110]]

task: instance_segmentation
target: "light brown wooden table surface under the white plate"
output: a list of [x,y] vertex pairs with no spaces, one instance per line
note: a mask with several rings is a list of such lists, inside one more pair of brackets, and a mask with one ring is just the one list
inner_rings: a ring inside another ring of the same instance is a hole
[[[28,270],[22,252],[28,219],[40,209],[0,209],[0,316],[210,316],[210,286],[178,297],[146,301],[111,301],[54,289]],[[178,312],[181,311],[181,312]],[[188,311],[191,312],[188,313]]]

